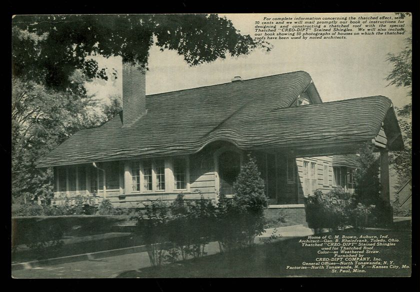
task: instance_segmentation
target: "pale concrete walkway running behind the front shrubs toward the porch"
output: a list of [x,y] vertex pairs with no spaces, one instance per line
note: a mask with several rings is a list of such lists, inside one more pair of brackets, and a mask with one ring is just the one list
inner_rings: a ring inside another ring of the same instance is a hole
[[[255,239],[255,243],[261,244],[261,239],[268,238],[274,233],[274,228],[267,229],[264,234]],[[276,228],[276,240],[285,240],[293,237],[304,237],[312,235],[312,230],[305,225],[294,225]],[[119,251],[123,253],[124,251]],[[135,250],[135,249],[132,249]],[[131,250],[131,251],[132,251]],[[128,252],[128,250],[127,250]],[[211,242],[205,248],[208,255],[217,254],[219,246],[217,242]],[[19,267],[20,270],[13,270],[13,278],[114,278],[125,271],[138,270],[150,267],[147,252],[141,251],[136,253],[118,254],[117,250],[105,253],[100,256],[94,256],[95,253],[85,254],[84,259],[77,262],[65,262],[66,259],[57,259],[63,263],[52,265],[36,265],[36,264],[23,264]],[[52,261],[53,262],[53,261]],[[51,263],[52,263],[51,262]]]

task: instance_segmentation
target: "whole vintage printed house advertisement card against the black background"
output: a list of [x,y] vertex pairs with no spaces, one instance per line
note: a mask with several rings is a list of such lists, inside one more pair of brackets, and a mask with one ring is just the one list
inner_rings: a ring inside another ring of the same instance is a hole
[[411,277],[412,14],[17,14],[11,277]]

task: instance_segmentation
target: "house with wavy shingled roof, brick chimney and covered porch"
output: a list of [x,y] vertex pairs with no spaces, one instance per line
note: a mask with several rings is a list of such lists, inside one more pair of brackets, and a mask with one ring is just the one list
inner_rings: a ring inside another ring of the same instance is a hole
[[38,167],[54,169],[57,200],[94,194],[98,201],[135,207],[183,193],[185,199],[202,195],[217,201],[219,194],[233,194],[232,183],[250,152],[270,209],[304,221],[304,196],[317,189],[352,189],[354,163],[345,155],[368,142],[381,153],[383,198],[389,202],[387,153],[403,144],[384,96],[322,103],[304,71],[236,76],[228,83],[146,96],[145,75],[123,64],[122,83],[118,115],[78,131],[38,161]]

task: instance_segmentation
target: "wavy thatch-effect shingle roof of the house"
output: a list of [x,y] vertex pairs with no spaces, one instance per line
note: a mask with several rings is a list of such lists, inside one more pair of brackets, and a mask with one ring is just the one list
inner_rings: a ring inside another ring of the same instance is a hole
[[64,141],[38,167],[189,154],[215,140],[241,149],[374,138],[391,101],[383,96],[289,107],[310,84],[303,71],[148,95],[129,127],[120,115]]

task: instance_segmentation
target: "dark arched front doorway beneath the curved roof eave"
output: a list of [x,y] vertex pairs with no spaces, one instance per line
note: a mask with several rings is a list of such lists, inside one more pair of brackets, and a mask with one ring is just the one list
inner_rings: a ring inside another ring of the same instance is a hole
[[218,174],[220,195],[232,195],[233,182],[240,172],[240,154],[235,151],[225,151],[218,156]]

